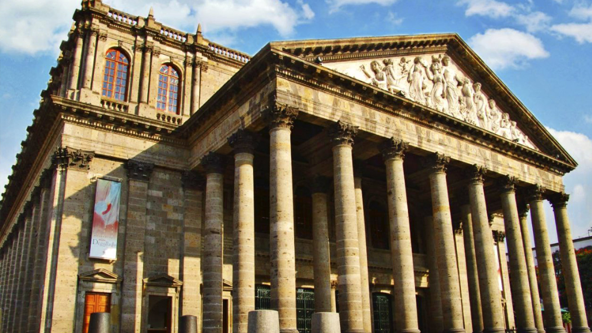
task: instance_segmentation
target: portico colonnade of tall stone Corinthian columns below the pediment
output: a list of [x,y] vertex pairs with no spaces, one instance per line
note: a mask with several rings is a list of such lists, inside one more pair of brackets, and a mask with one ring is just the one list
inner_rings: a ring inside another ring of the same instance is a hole
[[[298,110],[271,107],[269,123],[269,200],[271,306],[279,312],[281,332],[297,332],[296,268],[294,244],[294,207],[292,199],[291,129]],[[343,332],[370,332],[368,259],[365,251],[365,226],[361,180],[354,175],[352,148],[358,129],[338,121],[329,130],[333,153],[334,217],[336,226],[336,271],[339,290],[340,322]],[[234,155],[234,253],[233,253],[233,331],[246,332],[247,313],[255,309],[255,220],[253,185],[253,145],[255,136],[239,130],[229,138]],[[419,332],[416,308],[416,286],[411,249],[410,219],[403,161],[408,144],[394,138],[384,140],[379,150],[386,170],[390,248],[394,280],[394,316],[397,332]],[[432,260],[430,293],[433,320],[443,332],[465,332],[451,206],[446,180],[448,156],[433,153],[426,158],[432,212],[426,217],[432,226],[428,241]],[[221,226],[223,224],[221,158],[210,153],[202,159],[206,168],[203,332],[219,333],[221,318]],[[468,169],[466,193],[461,206],[465,224],[471,318],[473,332],[501,333],[505,328],[501,293],[498,286],[494,239],[488,218],[484,181],[487,169],[472,165]],[[491,175],[494,176],[494,175]],[[520,333],[541,331],[540,305],[536,302],[538,287],[533,280],[533,261],[525,212],[516,199],[518,180],[505,176],[496,178],[504,216],[504,227],[510,254],[516,328]],[[318,176],[313,181],[313,272],[317,312],[331,311],[329,220],[327,191],[330,178]],[[535,244],[540,273],[540,294],[545,305],[544,328],[547,332],[564,333],[561,309],[555,283],[542,199],[546,195],[539,185],[531,186],[529,204],[535,230]],[[590,332],[586,326],[580,279],[575,263],[566,203],[568,196],[551,197],[555,210],[562,264],[575,332]],[[441,322],[440,322],[441,321]],[[440,322],[440,323],[438,323]]]

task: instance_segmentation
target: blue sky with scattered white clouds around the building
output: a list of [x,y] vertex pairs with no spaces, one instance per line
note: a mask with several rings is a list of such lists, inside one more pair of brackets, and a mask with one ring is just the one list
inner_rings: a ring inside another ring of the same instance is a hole
[[[592,228],[592,0],[104,0],[251,55],[272,40],[458,33],[578,161],[572,233]],[[0,2],[0,188],[79,1]],[[548,209],[551,241],[556,240]]]

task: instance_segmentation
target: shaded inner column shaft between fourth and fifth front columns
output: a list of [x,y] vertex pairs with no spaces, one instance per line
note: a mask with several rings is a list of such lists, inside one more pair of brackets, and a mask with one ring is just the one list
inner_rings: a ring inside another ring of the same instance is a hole
[[481,312],[481,293],[479,291],[479,276],[477,257],[475,255],[475,241],[471,218],[471,205],[461,206],[462,232],[465,243],[466,276],[469,283],[469,299],[471,301],[471,321],[473,333],[483,331],[483,313]]

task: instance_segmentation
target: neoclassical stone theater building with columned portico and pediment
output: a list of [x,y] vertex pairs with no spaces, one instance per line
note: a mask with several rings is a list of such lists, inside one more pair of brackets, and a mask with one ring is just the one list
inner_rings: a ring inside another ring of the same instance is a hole
[[572,332],[590,332],[577,163],[458,35],[250,57],[152,11],[85,0],[73,19],[2,197],[0,331],[107,311],[114,333],[182,315],[244,333],[275,309],[282,333],[314,312],[350,333],[564,333],[554,220]]

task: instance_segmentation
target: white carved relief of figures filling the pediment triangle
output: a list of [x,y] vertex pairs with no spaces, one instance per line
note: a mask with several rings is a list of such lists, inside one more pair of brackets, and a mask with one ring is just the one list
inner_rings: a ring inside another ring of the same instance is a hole
[[448,55],[416,56],[413,59],[401,56],[323,65],[537,149],[516,121],[500,110],[493,98],[485,95],[481,83],[465,75]]

